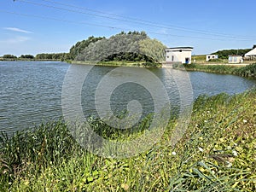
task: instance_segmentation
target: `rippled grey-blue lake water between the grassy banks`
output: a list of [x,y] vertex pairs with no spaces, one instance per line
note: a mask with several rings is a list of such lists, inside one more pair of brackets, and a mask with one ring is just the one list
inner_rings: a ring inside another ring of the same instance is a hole
[[[61,90],[69,64],[59,61],[0,61],[0,131],[12,133],[27,127],[39,125],[53,119],[62,117]],[[78,66],[81,73],[86,71],[86,66]],[[87,66],[88,67],[88,66]],[[96,90],[100,82],[105,87],[110,86],[105,79],[115,67],[93,67],[88,73],[82,86],[81,105],[85,116],[97,115],[96,113]],[[145,69],[146,70],[146,69]],[[175,80],[170,76],[171,69],[150,69],[151,73],[160,79],[165,85],[167,94],[173,103],[178,102],[180,90]],[[173,70],[175,71],[175,70]],[[220,75],[201,72],[175,71],[180,77],[179,81],[189,81],[193,88],[193,98],[201,94],[216,95],[226,92],[230,95],[241,93],[253,88],[256,84],[254,79],[243,79],[234,75]],[[125,79],[131,74],[117,72],[110,77],[113,79]],[[74,74],[74,77],[76,75]],[[83,74],[82,74],[83,76]],[[143,79],[146,83],[148,79]],[[72,88],[76,83],[70,84]],[[103,87],[104,87],[103,86]],[[181,88],[179,88],[181,89]],[[185,88],[184,88],[185,89]],[[73,90],[67,90],[73,96]],[[102,94],[102,95],[101,95]],[[98,105],[104,104],[104,93],[98,94]],[[101,97],[102,96],[102,97]],[[157,99],[160,99],[159,94]],[[191,96],[190,96],[191,97]],[[101,101],[102,99],[102,101]],[[133,100],[141,103],[143,113],[146,114],[154,109],[154,99],[142,85],[129,82],[116,87],[110,97],[111,109],[122,111]]]

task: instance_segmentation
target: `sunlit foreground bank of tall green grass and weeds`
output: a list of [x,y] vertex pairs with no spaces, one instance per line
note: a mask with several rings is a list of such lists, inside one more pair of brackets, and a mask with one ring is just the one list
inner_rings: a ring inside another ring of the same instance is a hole
[[[189,128],[170,145],[172,119],[160,143],[125,160],[90,154],[64,122],[1,137],[3,191],[255,191],[256,90],[200,96]],[[98,130],[104,124],[96,123]]]

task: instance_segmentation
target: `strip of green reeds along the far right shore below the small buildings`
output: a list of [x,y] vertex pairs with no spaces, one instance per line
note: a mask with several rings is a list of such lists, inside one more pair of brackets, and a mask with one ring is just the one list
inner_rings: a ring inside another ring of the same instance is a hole
[[200,71],[207,73],[221,73],[221,74],[235,74],[246,78],[256,79],[256,63],[248,65],[246,67],[233,67],[227,65],[200,65],[200,64],[191,64],[173,66],[176,69],[185,68],[187,71]]

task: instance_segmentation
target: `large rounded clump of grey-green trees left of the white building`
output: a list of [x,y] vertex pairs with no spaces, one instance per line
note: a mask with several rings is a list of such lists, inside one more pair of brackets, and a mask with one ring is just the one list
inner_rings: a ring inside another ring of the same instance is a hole
[[122,55],[123,61],[145,59],[145,63],[157,63],[165,59],[165,49],[166,46],[156,39],[148,38],[146,32],[120,32],[110,38],[90,37],[74,45],[70,54],[75,61],[120,61]]

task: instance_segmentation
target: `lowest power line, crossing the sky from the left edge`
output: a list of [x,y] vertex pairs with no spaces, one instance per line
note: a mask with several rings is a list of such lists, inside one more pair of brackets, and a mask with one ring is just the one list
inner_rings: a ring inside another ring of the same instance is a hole
[[[90,22],[84,22],[84,21],[73,21],[73,20],[63,20],[63,19],[58,19],[58,18],[53,18],[53,17],[46,17],[46,16],[41,16],[41,15],[28,15],[28,14],[22,14],[22,13],[17,13],[17,12],[12,12],[12,11],[6,11],[0,9],[0,12],[6,13],[6,14],[11,14],[11,15],[20,15],[20,16],[26,16],[26,17],[34,17],[34,18],[39,18],[39,19],[44,19],[44,20],[56,20],[56,21],[62,21],[62,22],[67,22],[67,23],[73,23],[73,24],[78,24],[78,25],[86,25],[86,26],[98,26],[98,27],[104,27],[104,28],[109,28],[109,29],[118,29],[121,31],[134,31],[134,29],[128,29],[128,28],[121,28],[121,27],[116,27],[116,26],[104,26],[104,25],[99,25],[95,23],[90,23]],[[136,30],[135,30],[136,31]],[[177,37],[177,38],[197,38],[197,39],[208,39],[208,40],[228,40],[226,38],[202,38],[202,37],[193,37],[193,36],[184,36],[184,35],[176,35],[176,34],[170,34],[170,33],[160,33],[160,32],[148,32],[151,34],[157,34],[157,35],[164,35],[164,36],[171,36],[171,37]],[[246,41],[245,39],[241,41]]]

